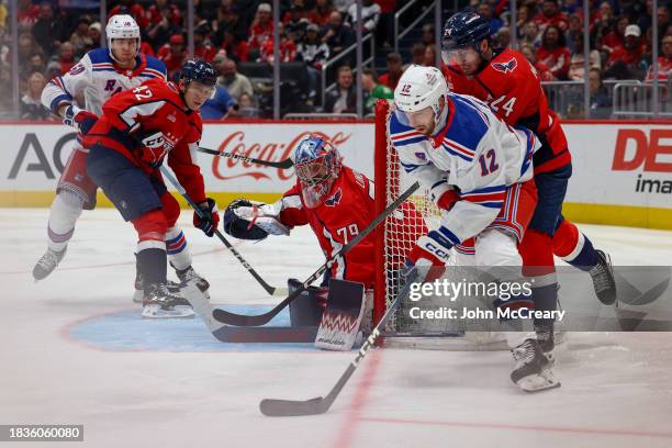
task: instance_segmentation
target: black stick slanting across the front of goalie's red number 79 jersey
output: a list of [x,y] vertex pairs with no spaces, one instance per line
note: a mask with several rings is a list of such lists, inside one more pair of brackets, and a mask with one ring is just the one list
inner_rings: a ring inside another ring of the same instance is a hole
[[259,325],[265,325],[271,318],[273,318],[278,313],[280,313],[287,305],[289,305],[290,302],[294,301],[299,295],[301,295],[302,291],[304,291],[315,280],[317,280],[320,277],[322,277],[324,271],[327,270],[328,268],[331,268],[332,265],[336,261],[336,259],[338,257],[340,257],[344,254],[346,254],[352,247],[358,245],[359,242],[361,242],[363,238],[366,238],[371,232],[373,232],[373,229],[376,227],[378,227],[378,225],[380,223],[385,221],[385,219],[394,210],[396,210],[406,199],[408,199],[408,197],[411,194],[413,194],[415,192],[415,190],[417,190],[418,188],[419,188],[419,183],[417,183],[417,182],[413,183],[402,195],[396,198],[396,200],[394,202],[392,202],[390,205],[388,205],[388,208],[381,214],[376,216],[376,219],[373,221],[371,221],[371,224],[369,224],[367,226],[367,228],[361,231],[355,238],[352,238],[346,245],[344,245],[340,248],[340,250],[338,250],[336,254],[334,254],[332,256],[332,258],[326,260],[326,262],[324,265],[322,265],[303,283],[301,283],[301,285],[295,291],[293,291],[290,295],[288,295],[287,299],[284,299],[282,302],[280,302],[271,311],[269,311],[267,313],[264,313],[264,314],[258,314],[256,316],[246,316],[246,315],[242,315],[242,314],[229,313],[228,311],[224,311],[224,310],[214,310],[213,314],[212,314],[213,317],[216,318],[217,321],[224,323],[224,324],[227,324],[227,325],[235,325],[235,326],[259,326]]

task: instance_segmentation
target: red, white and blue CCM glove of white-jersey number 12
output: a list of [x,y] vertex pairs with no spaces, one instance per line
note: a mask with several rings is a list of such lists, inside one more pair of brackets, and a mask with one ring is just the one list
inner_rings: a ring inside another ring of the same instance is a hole
[[405,280],[424,283],[439,279],[446,270],[451,247],[452,244],[437,231],[421,236],[406,257]]

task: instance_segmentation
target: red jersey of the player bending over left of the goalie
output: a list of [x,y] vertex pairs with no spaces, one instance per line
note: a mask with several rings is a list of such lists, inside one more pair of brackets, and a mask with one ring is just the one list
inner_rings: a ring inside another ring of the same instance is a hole
[[199,112],[186,109],[173,83],[152,79],[110,98],[82,143],[87,148],[100,144],[116,150],[159,178],[158,167],[168,156],[182,187],[200,203],[205,201],[203,176],[190,147],[198,146],[203,124]]

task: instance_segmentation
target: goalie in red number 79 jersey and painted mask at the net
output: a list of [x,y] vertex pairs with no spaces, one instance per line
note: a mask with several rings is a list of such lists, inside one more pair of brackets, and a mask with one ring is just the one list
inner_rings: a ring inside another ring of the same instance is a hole
[[[292,158],[296,182],[282,199],[273,204],[234,201],[224,214],[224,231],[236,238],[258,240],[269,234],[289,235],[293,227],[307,224],[328,259],[374,220],[373,183],[344,165],[338,149],[318,135],[303,139]],[[419,216],[410,209],[403,212],[404,219],[391,219],[411,223]],[[426,231],[418,225],[408,228],[417,232],[416,237]],[[373,245],[371,234],[337,257],[326,272],[322,290],[316,292],[316,300],[324,306],[329,279],[362,283],[367,290],[361,326],[365,333],[370,328],[372,313]]]

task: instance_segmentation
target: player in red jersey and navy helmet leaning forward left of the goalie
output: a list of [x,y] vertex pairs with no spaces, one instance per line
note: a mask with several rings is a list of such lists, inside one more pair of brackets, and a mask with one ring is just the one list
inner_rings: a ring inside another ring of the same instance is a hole
[[215,82],[210,64],[189,60],[178,85],[149,80],[112,97],[83,139],[90,148],[88,175],[137,232],[144,317],[193,316],[179,291],[167,285],[165,236],[180,208],[159,168],[167,159],[202,211],[203,219],[194,213],[194,225],[212,236],[219,222],[216,204],[205,197],[203,176],[190,149],[201,139],[198,110],[212,96]]

